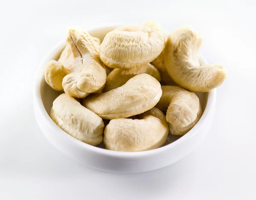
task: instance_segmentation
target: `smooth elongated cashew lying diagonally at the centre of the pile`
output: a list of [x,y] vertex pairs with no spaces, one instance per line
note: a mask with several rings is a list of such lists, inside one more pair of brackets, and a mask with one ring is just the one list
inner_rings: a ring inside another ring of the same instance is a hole
[[103,119],[127,118],[151,109],[161,96],[157,79],[140,74],[114,90],[91,94],[83,100],[83,105]]

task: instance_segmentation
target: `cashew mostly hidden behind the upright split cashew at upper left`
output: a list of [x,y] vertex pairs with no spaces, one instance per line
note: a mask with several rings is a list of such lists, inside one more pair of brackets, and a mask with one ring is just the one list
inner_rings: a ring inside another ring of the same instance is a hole
[[[99,38],[92,37],[96,49],[99,51],[100,40]],[[71,70],[72,65],[74,64],[74,56],[71,51],[70,45],[67,44],[64,50],[61,52],[61,56],[58,59],[58,62],[62,63],[65,68]]]

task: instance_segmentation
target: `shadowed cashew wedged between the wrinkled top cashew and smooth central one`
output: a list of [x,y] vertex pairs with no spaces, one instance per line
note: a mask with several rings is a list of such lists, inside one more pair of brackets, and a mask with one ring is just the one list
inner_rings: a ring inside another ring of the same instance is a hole
[[134,67],[131,69],[114,69],[107,76],[106,85],[103,91],[108,92],[109,90],[116,89],[117,87],[124,85],[135,75],[143,73],[153,76],[155,79],[157,79],[157,81],[161,81],[160,73],[157,68],[148,63],[141,67]]

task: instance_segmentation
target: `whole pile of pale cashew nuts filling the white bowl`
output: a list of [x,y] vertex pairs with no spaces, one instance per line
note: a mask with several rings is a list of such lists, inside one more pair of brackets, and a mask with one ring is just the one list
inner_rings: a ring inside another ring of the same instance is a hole
[[154,21],[117,27],[102,43],[69,29],[60,58],[45,68],[47,84],[64,91],[50,116],[90,145],[103,141],[114,151],[159,148],[169,132],[184,135],[200,119],[200,101],[192,91],[208,92],[227,76],[221,65],[204,63],[201,43],[188,26],[166,39]]

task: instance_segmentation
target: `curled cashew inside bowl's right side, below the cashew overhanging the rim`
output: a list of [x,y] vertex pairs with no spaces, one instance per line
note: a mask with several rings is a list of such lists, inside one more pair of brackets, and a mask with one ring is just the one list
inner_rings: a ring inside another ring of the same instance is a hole
[[198,96],[179,86],[162,86],[162,97],[157,103],[166,111],[166,121],[173,135],[184,135],[195,126],[202,115]]

